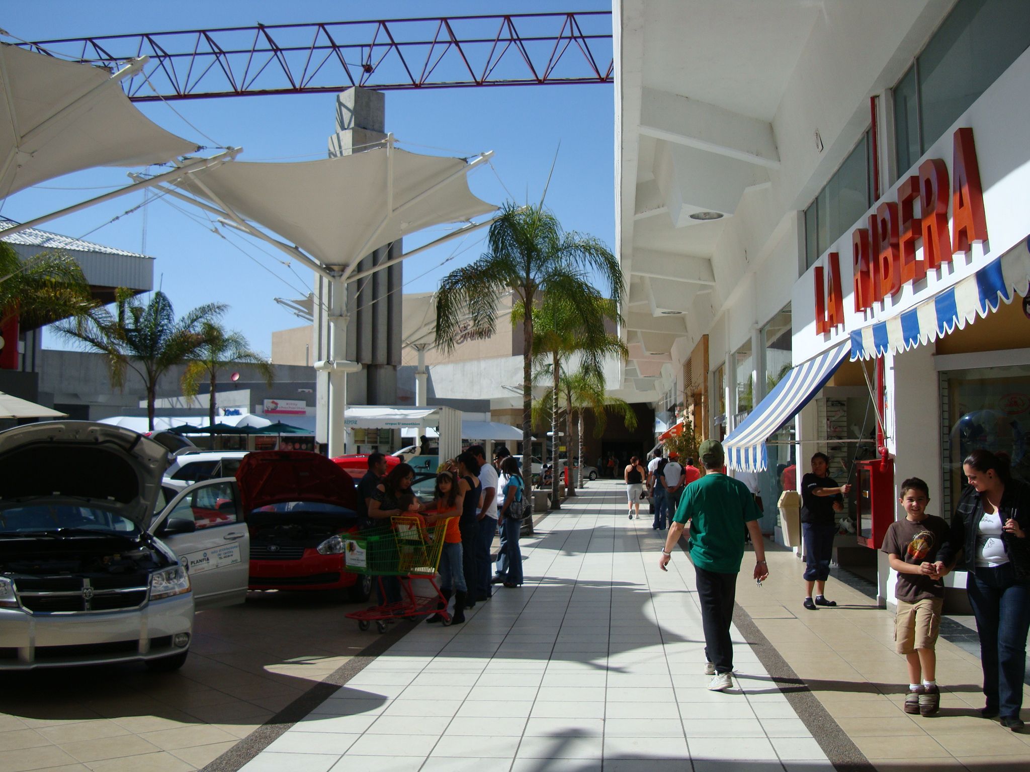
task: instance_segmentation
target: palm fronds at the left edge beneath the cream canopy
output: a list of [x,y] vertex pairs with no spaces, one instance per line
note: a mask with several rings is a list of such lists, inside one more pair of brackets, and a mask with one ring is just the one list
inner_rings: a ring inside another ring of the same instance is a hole
[[23,261],[0,242],[0,327],[18,317],[27,328],[40,327],[97,308],[90,285],[72,257],[43,252]]

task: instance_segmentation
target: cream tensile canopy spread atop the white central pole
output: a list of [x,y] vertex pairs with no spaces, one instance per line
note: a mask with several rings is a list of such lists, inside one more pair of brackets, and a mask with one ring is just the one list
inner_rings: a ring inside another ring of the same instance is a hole
[[236,162],[175,184],[226,215],[261,223],[322,266],[353,268],[403,236],[493,211],[469,190],[468,166],[380,147],[302,163]]

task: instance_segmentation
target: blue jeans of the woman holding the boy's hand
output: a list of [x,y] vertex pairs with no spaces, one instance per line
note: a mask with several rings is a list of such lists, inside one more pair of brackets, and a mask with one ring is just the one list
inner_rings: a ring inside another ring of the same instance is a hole
[[1016,578],[1010,563],[978,567],[969,573],[966,591],[984,669],[984,696],[1002,718],[1019,717],[1030,629],[1030,580]]

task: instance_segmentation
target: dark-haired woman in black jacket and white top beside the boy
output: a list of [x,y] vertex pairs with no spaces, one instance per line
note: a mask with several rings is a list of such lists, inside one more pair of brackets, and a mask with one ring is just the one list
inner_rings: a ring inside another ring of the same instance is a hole
[[984,670],[985,718],[1023,729],[1023,678],[1030,629],[1030,485],[1008,473],[1008,458],[974,450],[962,462],[969,486],[952,517],[951,536],[938,553],[938,572],[960,561]]

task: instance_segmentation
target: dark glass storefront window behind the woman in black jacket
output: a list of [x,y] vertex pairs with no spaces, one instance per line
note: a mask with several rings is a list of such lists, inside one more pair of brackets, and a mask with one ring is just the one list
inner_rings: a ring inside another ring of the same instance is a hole
[[1008,454],[1012,475],[1030,480],[1030,365],[940,374],[945,506],[965,486],[962,459],[977,448]]

